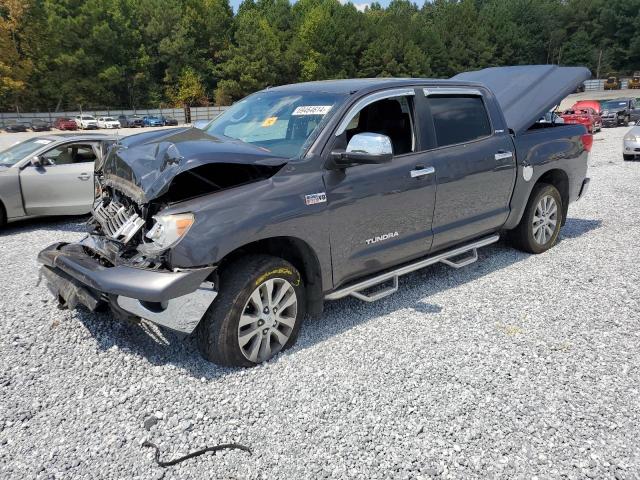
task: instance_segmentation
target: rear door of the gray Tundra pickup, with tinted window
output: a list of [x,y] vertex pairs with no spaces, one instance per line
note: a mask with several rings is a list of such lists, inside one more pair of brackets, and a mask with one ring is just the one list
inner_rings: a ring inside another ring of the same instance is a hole
[[[509,215],[516,175],[513,142],[483,92],[425,89],[429,162],[437,184],[433,249],[496,231]],[[490,112],[494,115],[491,117]]]

